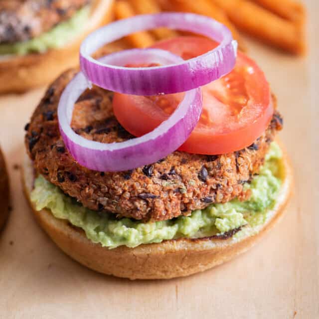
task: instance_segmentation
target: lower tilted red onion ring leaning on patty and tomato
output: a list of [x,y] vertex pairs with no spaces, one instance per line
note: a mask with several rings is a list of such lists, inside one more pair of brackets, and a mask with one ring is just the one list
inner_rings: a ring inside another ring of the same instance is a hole
[[[176,63],[180,57],[160,49],[133,49],[101,58],[102,63]],[[185,93],[175,112],[154,131],[121,143],[105,144],[77,135],[70,126],[74,104],[87,89],[82,72],[78,73],[62,93],[58,106],[59,128],[72,157],[81,165],[98,171],[122,171],[154,163],[177,150],[195,128],[202,106],[200,89]]]

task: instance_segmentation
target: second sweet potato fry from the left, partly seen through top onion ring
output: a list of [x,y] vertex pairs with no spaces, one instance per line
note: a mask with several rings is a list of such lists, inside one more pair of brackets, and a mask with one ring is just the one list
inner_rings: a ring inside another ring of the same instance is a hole
[[[137,14],[158,13],[161,11],[160,5],[156,0],[130,0],[130,2]],[[159,40],[172,38],[178,35],[176,31],[167,28],[157,28],[151,32]]]

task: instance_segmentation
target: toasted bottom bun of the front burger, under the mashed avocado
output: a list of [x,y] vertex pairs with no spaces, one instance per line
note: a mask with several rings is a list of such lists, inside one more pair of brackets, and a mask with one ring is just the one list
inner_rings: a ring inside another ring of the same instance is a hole
[[70,257],[103,274],[130,279],[168,279],[188,276],[214,266],[247,251],[271,229],[282,216],[291,185],[291,166],[285,156],[281,162],[283,185],[274,209],[268,213],[264,225],[248,230],[239,240],[216,238],[167,240],[159,244],[140,245],[136,248],[102,247],[87,239],[84,231],[66,220],[55,218],[47,209],[36,211],[30,201],[34,171],[28,158],[23,169],[26,197],[40,226]]

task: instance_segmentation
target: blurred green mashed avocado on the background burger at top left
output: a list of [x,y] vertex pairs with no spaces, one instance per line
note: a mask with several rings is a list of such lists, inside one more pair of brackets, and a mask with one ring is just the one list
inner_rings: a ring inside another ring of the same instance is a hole
[[89,13],[90,8],[88,6],[83,7],[74,13],[69,20],[57,24],[50,31],[42,33],[38,37],[24,42],[0,44],[0,55],[24,55],[32,52],[43,53],[48,49],[61,48],[81,33],[89,17]]

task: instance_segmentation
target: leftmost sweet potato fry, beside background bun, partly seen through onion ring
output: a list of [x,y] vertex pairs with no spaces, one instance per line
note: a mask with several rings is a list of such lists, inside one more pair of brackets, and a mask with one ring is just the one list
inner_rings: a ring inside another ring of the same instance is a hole
[[[135,15],[131,4],[125,0],[118,0],[114,5],[114,12],[117,19],[124,19]],[[147,31],[135,32],[126,37],[126,39],[138,48],[145,48],[155,42],[154,37]]]

